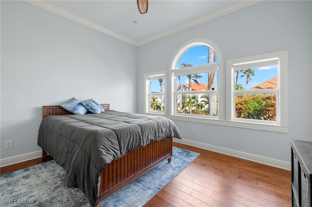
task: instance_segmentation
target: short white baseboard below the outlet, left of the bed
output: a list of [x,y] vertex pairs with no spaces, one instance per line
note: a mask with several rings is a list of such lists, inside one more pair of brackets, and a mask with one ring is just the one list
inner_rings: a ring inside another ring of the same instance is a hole
[[26,153],[22,155],[16,155],[16,156],[3,158],[3,159],[0,159],[0,167],[13,165],[16,163],[24,162],[24,161],[31,160],[31,159],[36,159],[39,157],[42,157],[42,150],[32,152],[32,153]]

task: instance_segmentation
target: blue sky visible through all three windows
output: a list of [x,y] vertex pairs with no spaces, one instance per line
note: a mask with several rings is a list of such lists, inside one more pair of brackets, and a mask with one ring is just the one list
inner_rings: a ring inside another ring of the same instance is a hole
[[[216,57],[216,62],[218,62],[218,57]],[[177,68],[181,67],[182,63],[191,64],[192,66],[199,66],[208,63],[208,47],[207,46],[196,46],[193,47],[182,54],[180,57]],[[263,68],[253,68],[254,76],[251,76],[252,81],[248,83],[247,89],[257,86],[273,77],[277,77],[277,67],[263,67]],[[202,78],[198,78],[197,81],[203,84],[208,83],[208,74],[200,74]],[[241,84],[243,87],[246,85],[246,75],[240,77],[243,73],[239,74],[237,84]],[[186,76],[180,77],[181,84],[188,85],[188,80]],[[160,92],[160,86],[158,80],[151,81],[151,91]],[[234,82],[235,83],[235,82]],[[163,87],[164,89],[164,87]]]

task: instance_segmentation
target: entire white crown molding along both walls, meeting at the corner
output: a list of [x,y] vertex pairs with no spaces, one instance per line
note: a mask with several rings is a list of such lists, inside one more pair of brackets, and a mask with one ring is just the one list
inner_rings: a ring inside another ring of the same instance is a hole
[[186,24],[183,24],[183,25],[180,25],[180,26],[177,26],[177,27],[174,27],[173,29],[170,29],[170,30],[167,30],[165,32],[162,32],[162,33],[159,33],[157,35],[153,35],[151,37],[148,37],[146,39],[143,39],[143,40],[140,40],[140,41],[135,41],[133,39],[130,39],[130,38],[127,38],[123,35],[119,35],[118,33],[115,33],[111,30],[108,30],[92,21],[89,21],[85,18],[82,18],[82,17],[79,17],[73,13],[70,13],[64,9],[61,9],[57,6],[54,6],[53,4],[50,4],[44,0],[24,0],[28,3],[31,3],[33,5],[36,5],[40,8],[43,8],[45,10],[48,10],[50,12],[53,12],[55,14],[58,14],[62,17],[65,17],[65,18],[68,18],[68,19],[71,19],[75,22],[78,22],[84,26],[87,26],[87,27],[90,27],[94,30],[97,30],[101,33],[104,33],[106,35],[110,35],[110,36],[113,36],[117,39],[120,39],[124,42],[127,42],[129,44],[132,44],[134,46],[140,46],[140,45],[144,45],[146,43],[149,43],[149,42],[152,42],[152,41],[155,41],[157,39],[160,39],[162,37],[165,37],[165,36],[168,36],[168,35],[172,35],[172,34],[175,34],[177,32],[180,32],[182,30],[185,30],[185,29],[188,29],[188,28],[191,28],[191,27],[194,27],[196,25],[199,25],[201,23],[204,23],[206,21],[209,21],[209,20],[212,20],[214,18],[217,18],[217,17],[221,17],[223,15],[227,15],[229,13],[232,13],[234,11],[237,11],[239,9],[242,9],[242,8],[245,8],[245,7],[248,7],[248,6],[251,6],[255,3],[258,3],[258,2],[261,2],[263,0],[240,0],[230,6],[227,6],[225,8],[222,8],[222,9],[219,9],[213,13],[210,13],[208,14],[207,16],[204,16],[204,17],[200,17],[200,18],[197,18],[195,20],[192,20],[192,21],[189,21],[187,22]]

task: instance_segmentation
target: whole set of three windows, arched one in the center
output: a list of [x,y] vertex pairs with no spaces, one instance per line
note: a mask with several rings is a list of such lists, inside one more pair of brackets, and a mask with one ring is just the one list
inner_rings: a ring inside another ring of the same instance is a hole
[[287,51],[239,57],[226,61],[225,73],[215,43],[191,40],[174,53],[170,71],[144,74],[145,113],[287,133],[287,60]]

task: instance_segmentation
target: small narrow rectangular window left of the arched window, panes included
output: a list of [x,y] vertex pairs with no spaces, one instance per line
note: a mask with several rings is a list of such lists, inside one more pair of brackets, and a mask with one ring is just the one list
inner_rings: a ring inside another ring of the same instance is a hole
[[145,80],[145,112],[164,114],[165,81],[167,71],[144,74]]

